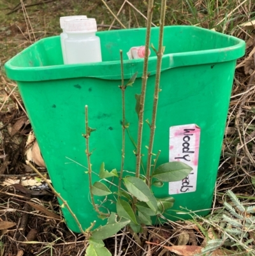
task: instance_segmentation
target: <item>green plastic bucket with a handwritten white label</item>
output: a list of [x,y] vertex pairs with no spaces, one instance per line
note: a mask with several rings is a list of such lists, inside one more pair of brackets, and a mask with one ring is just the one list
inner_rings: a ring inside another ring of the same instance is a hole
[[[122,148],[122,100],[119,50],[144,45],[146,29],[99,32],[102,63],[64,65],[59,36],[37,41],[5,64],[10,79],[17,81],[27,114],[38,140],[55,190],[73,209],[82,227],[97,220],[89,200],[85,173],[85,110],[89,106],[92,169],[99,173],[120,169]],[[152,29],[157,46],[159,29]],[[212,206],[222,139],[238,57],[244,56],[245,42],[233,36],[194,26],[164,28],[166,47],[161,68],[161,93],[156,122],[154,153],[161,150],[157,164],[169,160],[191,163],[194,171],[179,183],[153,187],[156,197],[175,197],[166,218],[190,218],[180,211],[207,215]],[[145,119],[151,118],[156,73],[156,55],[149,57]],[[129,123],[124,170],[135,171],[138,117],[135,94],[140,94],[143,59],[128,60],[124,54],[124,77],[138,72],[133,87],[126,89],[126,120]],[[142,153],[145,165],[149,126],[143,128]],[[143,172],[142,172],[143,174]],[[99,177],[93,174],[93,181]],[[116,181],[113,181],[116,182]],[[100,204],[101,197],[96,197]],[[103,204],[114,209],[109,201]],[[68,227],[77,224],[63,208]],[[203,211],[201,211],[203,210]],[[97,220],[97,224],[101,223]]]

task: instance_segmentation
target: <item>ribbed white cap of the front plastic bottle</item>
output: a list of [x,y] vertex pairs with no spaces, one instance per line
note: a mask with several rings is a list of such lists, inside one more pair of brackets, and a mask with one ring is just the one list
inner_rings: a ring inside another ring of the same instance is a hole
[[66,19],[64,20],[66,33],[89,33],[98,31],[96,19]]

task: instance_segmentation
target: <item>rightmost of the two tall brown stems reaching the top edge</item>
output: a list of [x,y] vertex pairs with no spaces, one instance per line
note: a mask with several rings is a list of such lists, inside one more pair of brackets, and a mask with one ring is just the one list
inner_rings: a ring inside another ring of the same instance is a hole
[[164,54],[163,34],[164,34],[165,15],[166,15],[166,0],[162,0],[160,20],[159,20],[159,24],[160,24],[159,49],[157,50],[157,68],[156,68],[156,80],[155,80],[155,89],[154,89],[154,102],[152,107],[152,121],[150,124],[150,140],[149,140],[147,169],[146,169],[146,181],[149,187],[150,187],[150,167],[151,167],[151,160],[152,160],[152,150],[153,150],[154,136],[155,136],[155,130],[156,130],[157,103],[159,100],[159,82],[160,82],[160,75],[161,75],[161,63],[162,63],[162,57]]

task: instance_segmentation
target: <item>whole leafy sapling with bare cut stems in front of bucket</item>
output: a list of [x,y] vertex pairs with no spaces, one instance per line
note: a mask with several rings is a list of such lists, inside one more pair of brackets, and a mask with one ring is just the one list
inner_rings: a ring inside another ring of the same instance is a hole
[[[149,43],[150,43],[150,29],[152,22],[154,1],[149,0],[148,11],[147,11],[147,32],[145,38],[145,57],[143,60],[143,75],[142,75],[142,86],[141,93],[136,94],[136,106],[134,106],[136,113],[138,114],[138,139],[136,143],[136,165],[133,170],[124,171],[125,163],[125,142],[126,142],[126,130],[129,124],[126,122],[125,113],[125,91],[129,86],[133,86],[136,75],[129,79],[125,84],[124,81],[124,65],[122,50],[120,50],[120,70],[121,70],[121,97],[122,97],[122,155],[120,172],[116,169],[108,172],[105,170],[105,164],[102,163],[99,170],[99,178],[104,181],[96,181],[92,184],[92,163],[91,163],[91,151],[89,149],[89,138],[91,133],[96,129],[89,127],[89,107],[85,106],[85,154],[87,156],[88,165],[88,179],[89,179],[89,192],[91,197],[91,203],[94,210],[100,218],[106,218],[106,225],[100,226],[97,229],[92,230],[94,227],[94,222],[86,230],[82,229],[82,225],[78,222],[77,217],[71,211],[68,203],[61,197],[61,195],[55,192],[55,195],[61,199],[64,207],[67,207],[75,221],[77,222],[80,231],[85,235],[86,242],[89,243],[87,247],[87,256],[110,256],[110,252],[105,248],[103,239],[116,234],[123,227],[128,227],[128,230],[136,238],[139,239],[136,233],[143,232],[143,227],[145,225],[152,225],[152,216],[162,215],[167,209],[173,206],[173,197],[165,197],[161,199],[156,199],[152,193],[152,179],[154,179],[154,185],[162,186],[164,182],[178,181],[182,180],[189,175],[192,168],[182,162],[167,162],[162,165],[157,166],[157,160],[160,158],[160,152],[157,154],[153,153],[154,135],[156,132],[156,114],[157,114],[157,102],[159,98],[159,85],[160,85],[160,73],[161,73],[161,62],[164,53],[163,47],[163,32],[164,32],[164,16],[166,9],[166,0],[161,2],[161,18],[159,21],[159,43],[158,50],[152,45],[152,49],[156,52],[157,56],[157,66],[156,66],[156,82],[154,87],[154,102],[152,106],[152,119],[151,123],[149,120],[145,122],[150,126],[150,137],[149,137],[149,147],[147,153],[147,166],[146,166],[146,176],[140,174],[140,167],[143,167],[142,163],[142,140],[143,140],[143,113],[145,109],[145,94],[147,91],[147,79],[148,79],[148,62],[149,62]],[[94,135],[93,135],[94,136]],[[95,134],[96,136],[96,134]],[[129,136],[130,137],[130,136]],[[133,140],[132,140],[133,142]],[[135,144],[135,143],[133,143]],[[154,164],[152,164],[152,156],[156,156],[154,159]],[[30,165],[29,165],[30,166]],[[125,175],[124,175],[124,172]],[[109,181],[108,179],[114,179],[114,181]],[[117,182],[116,182],[117,179]],[[114,184],[114,188],[106,186],[107,183]],[[117,192],[116,192],[117,187]],[[54,188],[52,188],[54,189]],[[116,206],[115,211],[110,209],[99,209],[100,206],[96,204],[94,196],[104,197],[107,199],[108,195],[112,195],[112,203]],[[95,218],[96,221],[96,218]]]

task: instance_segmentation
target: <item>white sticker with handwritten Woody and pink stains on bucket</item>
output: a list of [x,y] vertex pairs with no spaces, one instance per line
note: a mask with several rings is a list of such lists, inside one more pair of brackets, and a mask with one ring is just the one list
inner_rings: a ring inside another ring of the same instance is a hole
[[169,162],[180,161],[193,168],[193,171],[182,181],[169,183],[169,194],[195,192],[198,176],[200,128],[196,124],[171,126],[169,139]]

